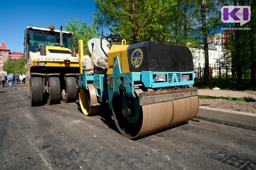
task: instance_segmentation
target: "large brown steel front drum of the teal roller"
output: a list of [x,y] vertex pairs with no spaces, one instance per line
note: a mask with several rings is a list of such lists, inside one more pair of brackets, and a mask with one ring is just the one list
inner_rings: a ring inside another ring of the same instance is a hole
[[[187,122],[195,117],[199,108],[197,88],[192,88],[191,91],[165,90],[163,92],[151,89],[143,92],[141,89],[136,89],[135,93],[139,98],[146,95],[149,97],[140,99],[140,113],[137,115],[139,118],[134,123],[123,116],[122,100],[119,97],[114,97],[112,103],[115,124],[120,133],[127,138],[137,138]],[[153,95],[150,96],[150,93]]]

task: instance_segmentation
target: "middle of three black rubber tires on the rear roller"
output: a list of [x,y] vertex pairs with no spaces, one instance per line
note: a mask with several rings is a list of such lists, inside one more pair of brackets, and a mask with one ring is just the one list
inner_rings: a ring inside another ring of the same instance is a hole
[[49,77],[48,79],[49,96],[47,99],[48,104],[60,103],[60,79],[59,77]]

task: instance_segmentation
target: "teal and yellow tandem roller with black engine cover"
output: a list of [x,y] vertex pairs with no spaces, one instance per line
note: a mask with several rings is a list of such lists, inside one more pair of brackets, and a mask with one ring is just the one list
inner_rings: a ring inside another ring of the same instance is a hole
[[[108,41],[108,52],[103,40]],[[154,41],[134,43],[116,35],[103,36],[100,42],[107,68],[87,75],[86,66],[80,64],[78,85],[85,115],[112,110],[118,130],[127,138],[195,117],[198,89],[192,86],[193,60],[187,47]]]

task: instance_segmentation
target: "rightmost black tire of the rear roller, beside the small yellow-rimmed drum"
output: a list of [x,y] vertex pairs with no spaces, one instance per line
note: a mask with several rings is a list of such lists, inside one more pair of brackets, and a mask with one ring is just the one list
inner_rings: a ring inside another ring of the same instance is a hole
[[64,77],[61,91],[62,101],[65,103],[76,102],[76,79],[75,77]]

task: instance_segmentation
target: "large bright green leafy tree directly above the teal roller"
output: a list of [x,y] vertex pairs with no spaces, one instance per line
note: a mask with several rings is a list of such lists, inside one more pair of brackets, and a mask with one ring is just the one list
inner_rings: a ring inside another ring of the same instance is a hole
[[93,14],[98,26],[107,27],[110,32],[136,42],[170,39],[167,31],[174,0],[95,0]]

